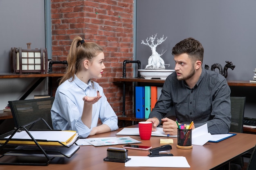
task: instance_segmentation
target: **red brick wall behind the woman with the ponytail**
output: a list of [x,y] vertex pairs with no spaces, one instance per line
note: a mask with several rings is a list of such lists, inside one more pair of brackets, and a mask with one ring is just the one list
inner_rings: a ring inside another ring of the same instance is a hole
[[[108,102],[117,115],[122,114],[123,61],[133,60],[133,0],[51,0],[52,60],[67,60],[72,39],[79,35],[88,42],[101,45],[106,66],[101,79],[94,79],[104,89]],[[65,66],[53,65],[53,72]],[[132,77],[132,64],[126,66],[126,77]],[[55,79],[54,89],[58,84]],[[126,115],[132,113],[132,84],[126,87]],[[53,93],[54,94],[54,93]]]

